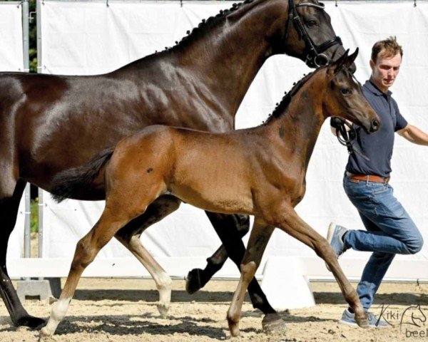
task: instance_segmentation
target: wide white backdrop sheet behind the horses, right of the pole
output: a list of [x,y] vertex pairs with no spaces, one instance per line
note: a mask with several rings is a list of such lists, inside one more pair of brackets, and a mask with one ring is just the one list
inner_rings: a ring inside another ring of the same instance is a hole
[[[44,1],[41,6],[42,72],[85,75],[113,71],[179,41],[185,31],[201,19],[230,8],[232,2],[105,2]],[[363,6],[364,4],[364,6]],[[344,46],[357,46],[357,78],[370,76],[369,59],[374,41],[397,36],[404,48],[402,69],[392,88],[394,98],[409,123],[428,131],[428,98],[424,93],[428,78],[428,4],[418,1],[374,3],[364,1],[339,6],[326,3],[335,32]],[[399,18],[399,20],[398,20]],[[410,24],[411,23],[411,24]],[[274,56],[263,66],[250,87],[237,115],[237,127],[258,125],[271,113],[282,93],[309,69],[301,61]],[[428,150],[406,142],[398,135],[392,160],[392,186],[428,241]],[[331,220],[352,229],[363,229],[360,217],[342,190],[347,152],[322,128],[307,172],[307,193],[297,212],[317,232],[325,235]],[[103,202],[67,200],[56,204],[44,195],[44,257],[71,257],[76,242],[98,219]],[[208,219],[200,209],[182,204],[180,209],[143,234],[143,244],[156,257],[208,257],[219,246]],[[300,242],[275,232],[267,255],[315,256]],[[128,252],[117,242],[104,247],[99,257],[125,257]],[[344,258],[369,254],[347,252]],[[397,259],[427,259],[428,243],[415,256]],[[193,266],[189,265],[189,269]],[[261,267],[260,269],[262,269]],[[415,274],[415,278],[419,276]]]

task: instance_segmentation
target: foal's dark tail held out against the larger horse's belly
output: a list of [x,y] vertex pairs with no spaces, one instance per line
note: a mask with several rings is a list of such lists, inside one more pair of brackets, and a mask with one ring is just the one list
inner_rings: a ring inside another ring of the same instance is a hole
[[114,146],[107,147],[99,152],[87,164],[58,173],[52,180],[51,192],[56,202],[66,198],[80,197],[92,187],[93,180],[98,176],[104,165],[113,155]]

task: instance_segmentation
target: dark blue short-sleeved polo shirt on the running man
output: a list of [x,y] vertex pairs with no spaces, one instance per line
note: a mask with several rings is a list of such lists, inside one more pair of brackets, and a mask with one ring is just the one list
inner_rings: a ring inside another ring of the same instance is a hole
[[362,93],[379,115],[381,125],[376,133],[370,135],[354,125],[357,130],[357,140],[354,144],[370,160],[367,161],[357,153],[352,153],[346,170],[356,175],[389,177],[394,133],[405,128],[407,121],[399,113],[397,102],[391,97],[392,93],[389,90],[386,94],[382,93],[372,82],[366,81],[362,86]]

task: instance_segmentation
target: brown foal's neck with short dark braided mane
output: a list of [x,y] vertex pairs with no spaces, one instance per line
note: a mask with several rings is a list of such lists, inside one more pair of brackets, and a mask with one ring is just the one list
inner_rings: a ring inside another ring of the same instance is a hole
[[268,129],[282,140],[285,149],[292,151],[292,156],[302,162],[302,170],[307,170],[325,121],[322,111],[322,97],[327,81],[325,73],[325,69],[313,73],[292,95],[290,104],[282,108],[282,113],[276,113],[275,118],[267,123]]

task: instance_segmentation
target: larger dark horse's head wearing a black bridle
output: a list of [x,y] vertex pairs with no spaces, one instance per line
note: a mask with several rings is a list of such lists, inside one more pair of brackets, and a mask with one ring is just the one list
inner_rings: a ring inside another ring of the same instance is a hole
[[[283,35],[285,53],[300,58],[307,66],[325,66],[342,56],[345,49],[336,36],[324,4],[317,0],[288,1],[288,14]],[[351,70],[355,71],[352,64]]]

